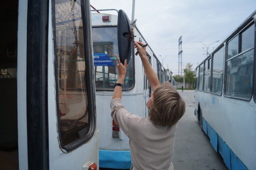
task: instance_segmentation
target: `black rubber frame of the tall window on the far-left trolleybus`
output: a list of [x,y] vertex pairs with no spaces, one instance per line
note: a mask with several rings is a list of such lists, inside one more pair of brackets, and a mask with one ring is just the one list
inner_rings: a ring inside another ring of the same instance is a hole
[[[83,7],[82,7],[83,6]],[[95,96],[95,80],[94,80],[94,66],[91,66],[93,63],[93,51],[92,51],[92,30],[91,30],[91,21],[90,21],[90,3],[86,0],[81,0],[81,9],[83,24],[83,33],[84,33],[84,58],[85,58],[85,66],[86,66],[86,91],[87,91],[87,99],[88,99],[88,127],[89,131],[86,136],[75,140],[74,142],[64,145],[62,142],[62,136],[60,132],[60,116],[59,113],[59,97],[58,97],[58,58],[56,52],[56,19],[55,19],[55,1],[52,0],[52,34],[53,34],[53,50],[54,50],[54,74],[55,74],[55,90],[56,90],[56,115],[57,115],[57,129],[58,129],[58,141],[60,144],[61,150],[64,152],[71,152],[81,145],[88,142],[93,136],[96,130],[96,103],[94,102],[96,99]],[[86,24],[87,23],[87,24]]]

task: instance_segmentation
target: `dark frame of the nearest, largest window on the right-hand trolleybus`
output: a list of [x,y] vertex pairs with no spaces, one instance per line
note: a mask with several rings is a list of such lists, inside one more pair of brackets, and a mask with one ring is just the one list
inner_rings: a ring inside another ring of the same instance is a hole
[[[247,50],[244,50],[243,52],[240,52],[240,49],[241,49],[241,41],[242,41],[242,36],[240,35],[240,34],[242,34],[247,28],[249,28],[252,24],[254,24],[254,46],[253,47],[250,47],[249,49],[247,49]],[[223,87],[222,87],[222,90],[223,90],[223,96],[224,97],[226,97],[226,98],[232,98],[232,99],[236,99],[236,100],[242,100],[242,101],[246,101],[246,102],[250,102],[251,100],[252,100],[252,98],[256,98],[255,97],[255,80],[256,80],[256,78],[255,78],[255,48],[256,48],[256,31],[255,31],[255,29],[256,29],[256,21],[255,21],[255,18],[250,18],[246,23],[244,23],[241,27],[240,27],[240,29],[238,29],[236,32],[234,32],[232,35],[230,35],[229,36],[229,38],[226,40],[226,44],[225,44],[225,46],[226,46],[226,48],[225,48],[225,56],[224,56],[224,82],[223,82]],[[235,38],[236,36],[238,36],[238,54],[237,55],[235,55],[235,56],[233,56],[233,57],[231,57],[231,58],[228,58],[228,43],[233,39],[233,38]],[[244,54],[244,53],[246,53],[246,52],[248,52],[248,51],[250,51],[250,50],[252,50],[252,48],[254,48],[254,62],[253,62],[253,66],[254,66],[254,72],[253,72],[253,74],[254,74],[254,76],[252,76],[253,77],[253,86],[254,86],[254,88],[252,88],[252,94],[251,94],[251,97],[250,97],[250,99],[248,100],[248,99],[246,99],[246,98],[241,98],[241,97],[234,97],[234,96],[228,96],[228,95],[226,95],[226,77],[227,77],[227,63],[228,63],[228,61],[229,60],[232,60],[233,58],[236,58],[237,56],[240,56],[240,55],[242,55],[242,54]],[[253,97],[254,96],[254,97]],[[254,99],[254,102],[256,102],[255,101],[256,99]]]

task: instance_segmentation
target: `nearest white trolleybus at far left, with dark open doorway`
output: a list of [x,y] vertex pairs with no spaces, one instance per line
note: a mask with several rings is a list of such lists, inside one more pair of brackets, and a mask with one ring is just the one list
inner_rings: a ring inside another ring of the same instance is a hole
[[0,169],[99,169],[89,0],[0,11]]

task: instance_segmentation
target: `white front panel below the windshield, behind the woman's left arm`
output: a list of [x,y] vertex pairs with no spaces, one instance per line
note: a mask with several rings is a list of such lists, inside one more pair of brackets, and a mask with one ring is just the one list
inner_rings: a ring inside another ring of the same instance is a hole
[[[143,109],[144,94],[131,94],[122,96],[122,104],[133,114],[143,117],[145,111]],[[99,148],[103,150],[129,150],[129,138],[120,129],[120,138],[112,138],[112,117],[110,115],[110,100],[112,95],[96,94],[98,128],[100,129]],[[132,102],[131,102],[132,101]],[[144,104],[145,105],[145,104]]]

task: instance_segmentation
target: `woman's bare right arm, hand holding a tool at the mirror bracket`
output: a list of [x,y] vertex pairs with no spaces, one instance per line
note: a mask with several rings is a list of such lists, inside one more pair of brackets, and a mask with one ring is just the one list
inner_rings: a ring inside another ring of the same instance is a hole
[[134,48],[138,48],[139,56],[142,61],[146,76],[148,78],[148,82],[154,91],[156,88],[160,86],[160,82],[158,80],[158,77],[156,73],[154,72],[152,66],[150,65],[148,58],[146,56],[146,47],[142,47],[142,42],[134,42]]

